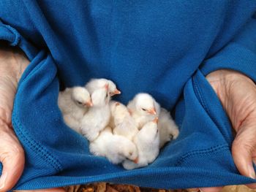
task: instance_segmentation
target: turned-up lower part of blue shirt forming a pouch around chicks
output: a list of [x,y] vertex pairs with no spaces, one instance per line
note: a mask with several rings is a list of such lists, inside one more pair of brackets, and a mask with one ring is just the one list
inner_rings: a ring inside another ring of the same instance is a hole
[[91,155],[87,140],[65,125],[51,55],[37,51],[10,26],[0,23],[0,31],[0,39],[19,46],[31,61],[20,79],[12,112],[15,133],[26,151],[26,166],[14,189],[101,181],[151,188],[256,183],[241,176],[233,163],[230,122],[200,69],[189,78],[176,105],[178,139],[168,143],[151,165],[127,171]]

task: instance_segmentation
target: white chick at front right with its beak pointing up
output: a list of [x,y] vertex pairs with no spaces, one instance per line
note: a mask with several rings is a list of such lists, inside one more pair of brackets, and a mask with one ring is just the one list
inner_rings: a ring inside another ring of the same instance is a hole
[[134,143],[138,148],[138,161],[125,160],[124,169],[135,169],[151,164],[159,154],[159,131],[157,128],[158,118],[150,121],[140,129],[135,136]]

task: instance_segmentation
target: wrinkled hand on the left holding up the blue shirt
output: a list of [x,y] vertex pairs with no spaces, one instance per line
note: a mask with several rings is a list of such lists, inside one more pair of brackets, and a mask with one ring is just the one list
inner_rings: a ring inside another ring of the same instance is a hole
[[18,182],[25,164],[23,147],[12,128],[12,107],[18,81],[28,65],[20,49],[0,41],[0,191],[9,191]]

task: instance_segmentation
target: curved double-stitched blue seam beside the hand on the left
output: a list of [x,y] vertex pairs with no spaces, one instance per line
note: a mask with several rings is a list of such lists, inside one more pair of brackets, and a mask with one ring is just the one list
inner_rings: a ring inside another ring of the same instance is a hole
[[[26,142],[26,144],[31,148],[31,150],[34,150],[34,152],[39,153],[41,158],[45,159],[48,162],[48,164],[53,166],[53,168],[57,172],[61,171],[62,166],[61,166],[61,163],[59,162],[59,160],[56,159],[55,157],[53,157],[53,155],[51,155],[51,153],[49,153],[47,150],[45,150],[45,148],[42,147],[42,145],[39,145],[38,142],[34,141],[34,139],[31,139],[31,137],[29,137],[28,133],[25,131],[26,129],[23,128],[22,124],[20,123],[18,118],[16,118],[15,116],[16,116],[15,112],[13,112],[12,123],[15,125],[15,131],[17,131],[19,133],[19,135],[23,139],[23,141]],[[19,126],[23,128],[23,131],[21,131]]]

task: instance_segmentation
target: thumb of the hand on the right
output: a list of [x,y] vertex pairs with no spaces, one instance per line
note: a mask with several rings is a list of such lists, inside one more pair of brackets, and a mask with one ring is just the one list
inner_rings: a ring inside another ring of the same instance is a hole
[[232,155],[238,171],[255,179],[253,158],[256,157],[256,125],[244,122],[232,145]]

